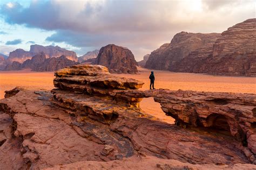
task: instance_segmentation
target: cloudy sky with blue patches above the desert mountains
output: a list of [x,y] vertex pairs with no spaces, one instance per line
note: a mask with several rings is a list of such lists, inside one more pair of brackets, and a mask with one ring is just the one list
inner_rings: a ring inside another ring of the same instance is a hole
[[181,31],[221,33],[256,18],[256,0],[0,1],[0,53],[60,46],[78,56],[107,44],[137,61]]

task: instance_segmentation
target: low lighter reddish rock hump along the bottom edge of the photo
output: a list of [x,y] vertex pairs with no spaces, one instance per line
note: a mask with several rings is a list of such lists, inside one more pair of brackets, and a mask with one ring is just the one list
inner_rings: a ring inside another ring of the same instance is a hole
[[187,169],[207,169],[207,170],[224,170],[224,169],[253,169],[255,165],[250,164],[235,164],[228,165],[194,165],[184,163],[173,159],[160,159],[157,157],[139,154],[123,160],[114,160],[109,162],[98,161],[79,161],[68,165],[58,165],[45,170],[59,170],[59,169],[172,169],[172,170],[187,170]]

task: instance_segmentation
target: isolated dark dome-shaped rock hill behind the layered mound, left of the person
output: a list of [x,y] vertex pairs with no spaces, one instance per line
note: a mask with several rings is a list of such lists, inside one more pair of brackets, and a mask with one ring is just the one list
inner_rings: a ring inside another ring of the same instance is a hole
[[100,48],[95,64],[109,68],[110,73],[134,74],[138,72],[136,67],[138,63],[132,52],[114,44]]

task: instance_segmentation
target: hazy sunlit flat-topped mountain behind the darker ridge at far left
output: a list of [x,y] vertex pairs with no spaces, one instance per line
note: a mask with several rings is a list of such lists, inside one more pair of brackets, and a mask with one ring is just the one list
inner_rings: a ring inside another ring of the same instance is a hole
[[73,51],[69,51],[59,46],[42,46],[42,45],[31,45],[30,51],[24,51],[24,49],[16,49],[13,52],[10,52],[7,63],[12,63],[13,61],[18,61],[23,63],[25,60],[31,59],[32,56],[35,56],[43,52],[46,58],[59,57],[65,55],[67,59],[78,61],[77,55]]

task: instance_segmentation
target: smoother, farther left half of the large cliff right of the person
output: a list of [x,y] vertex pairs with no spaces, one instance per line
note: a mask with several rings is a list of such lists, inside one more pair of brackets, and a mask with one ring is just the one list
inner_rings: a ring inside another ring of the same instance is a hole
[[219,37],[219,33],[180,32],[173,37],[170,44],[164,44],[153,51],[145,67],[175,71],[180,61],[190,53],[194,53],[200,58],[206,58],[212,53],[213,44]]

